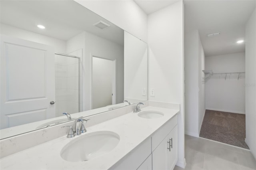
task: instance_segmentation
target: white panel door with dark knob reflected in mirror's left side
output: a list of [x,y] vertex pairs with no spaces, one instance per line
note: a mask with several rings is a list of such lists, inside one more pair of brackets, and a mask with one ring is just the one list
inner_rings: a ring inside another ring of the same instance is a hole
[[0,128],[55,116],[54,49],[1,36]]

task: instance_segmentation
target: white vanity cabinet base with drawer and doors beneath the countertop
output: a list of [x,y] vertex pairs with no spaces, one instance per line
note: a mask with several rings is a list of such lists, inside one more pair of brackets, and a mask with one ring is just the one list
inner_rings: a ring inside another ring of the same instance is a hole
[[110,169],[172,170],[177,158],[178,128],[177,115],[174,115]]

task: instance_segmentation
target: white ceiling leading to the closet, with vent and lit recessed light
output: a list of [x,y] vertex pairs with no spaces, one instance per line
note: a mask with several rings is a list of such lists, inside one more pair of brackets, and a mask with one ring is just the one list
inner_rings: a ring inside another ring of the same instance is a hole
[[[236,42],[245,40],[245,25],[255,4],[255,0],[185,0],[185,32],[198,29],[205,56],[243,52],[245,43]],[[206,36],[216,32],[220,35]]]

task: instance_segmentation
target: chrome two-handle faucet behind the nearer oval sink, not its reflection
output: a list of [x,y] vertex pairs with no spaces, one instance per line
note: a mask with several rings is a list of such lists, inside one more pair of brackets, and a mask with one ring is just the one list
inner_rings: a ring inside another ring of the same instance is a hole
[[[86,128],[84,127],[84,123],[86,123],[88,120],[90,120],[90,119],[87,119],[87,120],[86,119],[78,119],[78,120],[76,120],[76,131],[73,130],[72,126],[63,126],[61,128],[68,127],[69,130],[68,130],[67,138],[72,138],[76,135],[80,135],[81,133],[87,132]],[[80,122],[82,122],[81,126],[80,126]]]

